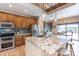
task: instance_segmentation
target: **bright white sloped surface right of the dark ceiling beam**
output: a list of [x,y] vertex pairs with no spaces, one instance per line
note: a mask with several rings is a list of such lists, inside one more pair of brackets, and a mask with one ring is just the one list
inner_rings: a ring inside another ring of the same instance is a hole
[[[78,16],[79,15],[79,3],[76,3],[75,5],[69,6],[68,8],[64,8],[60,11],[56,12],[56,19],[62,19],[68,18],[72,16]],[[51,14],[47,16],[47,20],[50,19]],[[55,19],[55,13],[52,13],[52,18]]]

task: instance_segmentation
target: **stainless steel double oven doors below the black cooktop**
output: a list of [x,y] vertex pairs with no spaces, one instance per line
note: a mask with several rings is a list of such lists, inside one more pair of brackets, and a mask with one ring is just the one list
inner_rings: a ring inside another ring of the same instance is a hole
[[0,51],[14,48],[14,36],[0,38]]

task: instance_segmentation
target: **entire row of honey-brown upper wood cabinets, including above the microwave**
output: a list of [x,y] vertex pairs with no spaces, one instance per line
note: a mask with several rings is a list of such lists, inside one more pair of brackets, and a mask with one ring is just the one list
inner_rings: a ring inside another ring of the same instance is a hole
[[0,12],[0,21],[13,22],[15,28],[30,28],[37,20],[31,17],[17,16],[9,13]]

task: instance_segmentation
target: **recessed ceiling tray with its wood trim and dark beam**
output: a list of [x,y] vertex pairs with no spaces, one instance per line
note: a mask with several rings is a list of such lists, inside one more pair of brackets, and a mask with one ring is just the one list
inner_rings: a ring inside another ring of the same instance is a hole
[[33,3],[33,4],[45,10],[46,12],[50,12],[56,8],[64,6],[67,3]]

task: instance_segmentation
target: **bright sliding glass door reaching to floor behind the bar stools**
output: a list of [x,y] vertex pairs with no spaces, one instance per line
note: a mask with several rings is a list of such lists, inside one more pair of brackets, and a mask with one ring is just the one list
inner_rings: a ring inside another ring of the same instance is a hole
[[75,56],[79,56],[79,23],[73,23],[73,24],[63,24],[63,25],[58,25],[58,32],[66,31],[72,32],[72,36],[62,36],[59,35],[58,39],[73,39],[74,45],[74,53]]

